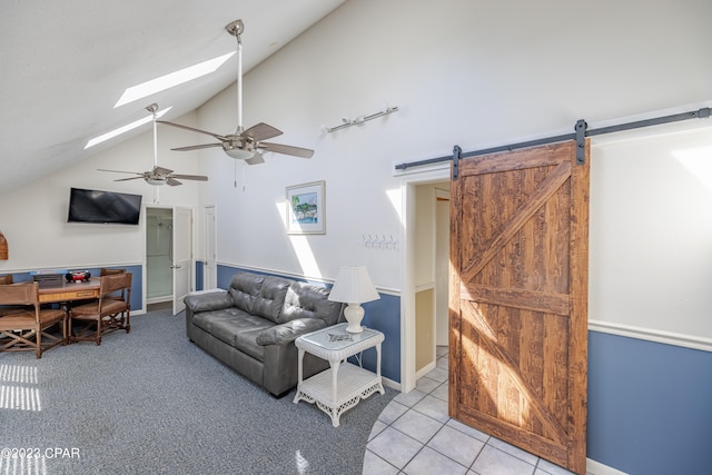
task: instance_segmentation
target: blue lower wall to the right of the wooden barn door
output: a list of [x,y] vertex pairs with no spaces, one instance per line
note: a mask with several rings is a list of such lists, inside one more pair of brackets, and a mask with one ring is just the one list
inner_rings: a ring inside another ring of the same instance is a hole
[[631,475],[712,473],[712,353],[589,331],[587,456]]

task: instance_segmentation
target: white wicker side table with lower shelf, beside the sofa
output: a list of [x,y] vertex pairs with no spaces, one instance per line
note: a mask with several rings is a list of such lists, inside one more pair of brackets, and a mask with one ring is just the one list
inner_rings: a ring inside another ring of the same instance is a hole
[[[316,403],[332,417],[334,427],[338,427],[342,414],[357,405],[360,399],[375,392],[385,393],[380,378],[380,344],[384,335],[370,328],[364,328],[359,334],[350,334],[346,331],[346,326],[347,324],[335,325],[301,335],[295,340],[299,350],[299,382],[294,403]],[[349,356],[373,347],[376,348],[376,373],[346,362]],[[303,380],[304,352],[327,359],[330,369]]]

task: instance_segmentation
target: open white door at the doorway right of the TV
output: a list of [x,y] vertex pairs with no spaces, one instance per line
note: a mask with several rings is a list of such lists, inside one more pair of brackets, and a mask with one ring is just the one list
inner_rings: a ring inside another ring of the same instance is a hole
[[192,277],[192,210],[174,208],[174,315],[185,308]]

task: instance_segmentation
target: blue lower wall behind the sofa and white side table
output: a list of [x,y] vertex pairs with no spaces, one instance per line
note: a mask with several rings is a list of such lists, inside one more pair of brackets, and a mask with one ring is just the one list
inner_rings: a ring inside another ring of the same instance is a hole
[[[218,265],[218,287],[227,289],[235,273],[240,270],[265,274]],[[324,285],[322,283],[313,284]],[[400,383],[400,298],[380,294],[379,300],[366,303],[363,307],[366,310],[363,325],[383,331],[385,335],[380,348],[380,374],[388,379]],[[363,364],[365,368],[375,372],[376,352],[370,349],[364,352]]]

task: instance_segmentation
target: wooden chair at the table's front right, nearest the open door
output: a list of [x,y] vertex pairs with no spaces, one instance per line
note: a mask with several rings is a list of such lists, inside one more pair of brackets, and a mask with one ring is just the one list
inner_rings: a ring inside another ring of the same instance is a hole
[[[71,307],[69,310],[69,342],[95,342],[118,329],[129,333],[131,310],[131,274],[112,274],[100,277],[99,299]],[[116,295],[121,293],[121,299]],[[77,328],[76,328],[76,324]]]

